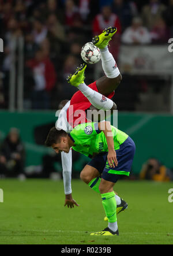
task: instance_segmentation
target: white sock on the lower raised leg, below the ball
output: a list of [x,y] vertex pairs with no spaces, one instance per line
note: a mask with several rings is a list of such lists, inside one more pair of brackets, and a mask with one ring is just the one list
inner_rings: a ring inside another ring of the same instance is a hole
[[97,91],[92,90],[88,86],[86,86],[85,83],[80,84],[77,87],[84,96],[89,99],[89,102],[93,106],[95,106],[97,109],[102,109],[102,110],[111,110],[112,106],[114,105],[114,102],[111,101],[111,99],[108,99],[104,97],[102,94],[100,94]]

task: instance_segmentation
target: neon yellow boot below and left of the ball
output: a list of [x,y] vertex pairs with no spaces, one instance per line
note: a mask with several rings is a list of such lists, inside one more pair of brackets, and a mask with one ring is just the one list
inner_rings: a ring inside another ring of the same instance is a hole
[[78,87],[80,84],[84,83],[85,80],[85,69],[86,64],[80,65],[74,75],[70,75],[67,77],[67,82],[72,84],[72,86]]

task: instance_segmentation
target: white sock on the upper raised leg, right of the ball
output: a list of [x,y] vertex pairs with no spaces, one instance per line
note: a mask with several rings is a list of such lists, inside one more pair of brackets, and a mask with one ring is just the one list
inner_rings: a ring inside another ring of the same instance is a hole
[[108,47],[105,47],[104,49],[100,49],[100,54],[101,54],[102,67],[105,75],[108,78],[115,78],[119,76],[120,75],[119,69],[116,66],[114,57],[108,50]]

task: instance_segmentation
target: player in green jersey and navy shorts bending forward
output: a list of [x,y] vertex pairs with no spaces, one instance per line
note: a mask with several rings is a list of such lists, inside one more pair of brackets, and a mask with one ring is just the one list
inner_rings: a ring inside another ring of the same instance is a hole
[[[110,122],[83,123],[72,132],[50,130],[46,146],[55,152],[69,153],[70,148],[92,158],[81,172],[81,179],[101,195],[108,227],[91,235],[119,235],[114,185],[120,176],[130,175],[135,153],[133,140]],[[101,175],[101,177],[100,177]]]

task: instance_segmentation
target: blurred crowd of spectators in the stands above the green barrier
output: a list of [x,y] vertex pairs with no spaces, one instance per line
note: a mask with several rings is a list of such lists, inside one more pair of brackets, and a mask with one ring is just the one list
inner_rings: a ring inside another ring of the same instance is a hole
[[[173,0],[0,0],[0,108],[9,101],[12,39],[24,37],[24,108],[57,109],[75,88],[66,77],[81,64],[81,47],[104,28],[118,32],[110,51],[118,61],[119,46],[167,43],[173,35]],[[86,83],[93,82],[88,67]]]

